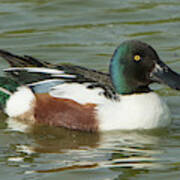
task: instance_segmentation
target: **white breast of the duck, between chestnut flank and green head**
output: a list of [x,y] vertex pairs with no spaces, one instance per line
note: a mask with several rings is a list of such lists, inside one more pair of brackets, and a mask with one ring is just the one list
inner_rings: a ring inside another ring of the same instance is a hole
[[100,130],[132,130],[166,127],[171,123],[164,101],[154,92],[120,96],[97,107]]

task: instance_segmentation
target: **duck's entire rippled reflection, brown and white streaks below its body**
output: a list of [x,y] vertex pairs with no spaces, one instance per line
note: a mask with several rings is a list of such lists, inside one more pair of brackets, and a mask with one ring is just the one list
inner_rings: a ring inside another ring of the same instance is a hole
[[[11,123],[11,130],[13,124],[16,124],[15,120]],[[24,125],[18,126],[24,128]],[[163,166],[157,158],[162,153],[157,145],[161,141],[160,137],[167,132],[160,132],[161,134],[159,131],[87,133],[36,125],[27,132],[33,143],[17,144],[18,156],[8,160],[23,163],[23,154],[24,159],[28,157],[34,162],[37,158],[44,164],[42,167],[28,169],[26,173],[99,168],[109,168],[113,172],[119,171],[119,168],[155,169]],[[42,154],[46,154],[47,159],[41,159],[39,155]],[[52,157],[49,160],[50,154]]]

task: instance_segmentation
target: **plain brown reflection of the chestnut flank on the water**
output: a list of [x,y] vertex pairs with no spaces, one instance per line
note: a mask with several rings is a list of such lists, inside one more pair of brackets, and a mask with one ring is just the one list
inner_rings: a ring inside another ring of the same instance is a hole
[[31,133],[38,145],[34,147],[34,151],[40,153],[64,153],[69,149],[96,148],[99,141],[98,133],[71,131],[64,128],[36,126]]

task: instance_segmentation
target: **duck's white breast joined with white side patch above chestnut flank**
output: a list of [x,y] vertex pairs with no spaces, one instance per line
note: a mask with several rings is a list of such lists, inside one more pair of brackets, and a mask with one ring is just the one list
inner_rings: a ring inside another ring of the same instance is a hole
[[87,84],[62,84],[50,94],[73,99],[80,104],[97,104],[97,119],[101,131],[152,129],[170,124],[170,112],[154,92],[120,96],[120,101],[105,98],[101,88],[87,89]]

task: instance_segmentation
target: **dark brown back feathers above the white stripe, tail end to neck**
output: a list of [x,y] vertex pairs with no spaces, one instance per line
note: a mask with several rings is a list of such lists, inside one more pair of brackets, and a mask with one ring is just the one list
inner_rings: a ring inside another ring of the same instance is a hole
[[17,56],[4,50],[0,50],[0,56],[4,58],[12,67],[44,67],[50,69],[58,69],[64,71],[67,74],[77,75],[77,77],[79,78],[76,80],[83,81],[83,79],[91,79],[92,81],[98,81],[99,84],[112,86],[111,79],[108,73],[87,69],[81,66],[51,64],[27,55]]

